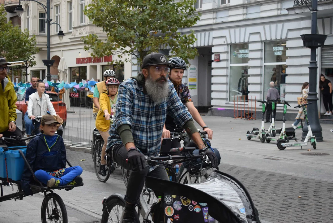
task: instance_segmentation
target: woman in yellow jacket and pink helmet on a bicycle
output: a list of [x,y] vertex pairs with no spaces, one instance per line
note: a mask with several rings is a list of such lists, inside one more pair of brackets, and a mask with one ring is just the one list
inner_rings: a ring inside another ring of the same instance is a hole
[[101,108],[98,111],[96,117],[96,128],[98,129],[104,140],[104,145],[101,154],[101,164],[99,170],[99,174],[102,176],[106,176],[105,150],[108,144],[108,137],[110,136],[109,135],[110,126],[113,124],[113,121],[110,120],[110,117],[116,112],[116,101],[117,101],[119,81],[116,78],[110,78],[106,81],[105,84],[108,89],[108,92],[102,92],[102,94],[100,95],[99,102]]

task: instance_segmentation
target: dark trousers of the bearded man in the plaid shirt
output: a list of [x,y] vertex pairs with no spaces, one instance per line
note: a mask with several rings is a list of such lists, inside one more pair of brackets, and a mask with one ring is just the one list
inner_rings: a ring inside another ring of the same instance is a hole
[[[142,171],[133,169],[130,163],[126,162],[126,159],[128,159],[127,156],[127,150],[123,144],[116,145],[113,150],[113,158],[114,160],[123,168],[127,170],[132,170],[130,173],[130,177],[127,182],[127,190],[126,190],[126,197],[125,200],[128,203],[136,204],[140,198],[140,194],[142,192],[142,189],[145,185],[145,177],[151,176],[160,178],[163,180],[169,180],[166,169],[164,166],[158,166],[153,171],[149,172],[149,166],[147,166]],[[149,188],[149,185],[147,185]],[[156,194],[158,197],[158,194]]]

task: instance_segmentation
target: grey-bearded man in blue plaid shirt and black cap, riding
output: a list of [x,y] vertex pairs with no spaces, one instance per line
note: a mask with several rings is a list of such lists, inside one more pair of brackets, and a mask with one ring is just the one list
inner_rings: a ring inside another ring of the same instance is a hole
[[164,166],[146,167],[144,155],[157,156],[166,116],[182,126],[201,152],[217,166],[215,154],[200,137],[192,116],[181,103],[171,81],[166,79],[171,66],[165,55],[151,53],[142,64],[142,72],[119,86],[116,117],[111,126],[108,151],[123,168],[132,170],[128,179],[123,223],[136,222],[135,206],[145,183],[145,176],[168,180]]

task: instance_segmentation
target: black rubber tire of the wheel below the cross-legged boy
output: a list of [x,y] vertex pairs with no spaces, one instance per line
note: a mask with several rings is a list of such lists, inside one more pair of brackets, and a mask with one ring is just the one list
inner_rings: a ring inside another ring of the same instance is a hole
[[[62,223],[67,223],[68,222],[68,218],[67,218],[67,210],[64,204],[64,201],[61,199],[61,197],[56,194],[56,193],[49,193],[46,195],[46,197],[44,197],[44,200],[42,202],[42,208],[41,208],[41,217],[42,217],[42,223],[47,223],[49,222],[47,219],[47,210],[46,210],[46,205],[49,204],[50,200],[53,200],[53,203],[55,204],[55,201],[59,204],[59,208],[60,208],[60,212],[61,212],[61,216],[59,215],[59,209],[58,206],[56,205],[55,208],[51,208],[49,207],[49,213],[52,213],[51,216],[53,217],[53,215],[55,215],[55,219],[57,219],[56,221],[51,220],[51,222],[62,222]],[[48,216],[48,218],[50,218]],[[54,219],[54,220],[55,220]],[[58,220],[61,221],[58,221]]]

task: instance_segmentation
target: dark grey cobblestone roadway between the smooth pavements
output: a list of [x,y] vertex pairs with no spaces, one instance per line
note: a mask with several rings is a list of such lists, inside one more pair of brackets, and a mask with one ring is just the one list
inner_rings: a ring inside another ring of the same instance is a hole
[[[223,150],[220,152],[223,153]],[[80,165],[84,170],[95,173],[91,154],[67,149],[67,157],[73,165]],[[80,161],[81,159],[85,161]],[[227,164],[221,164],[220,170],[231,174],[245,185],[263,220],[274,223],[333,222],[331,182]],[[122,181],[121,169],[116,169],[110,178]],[[97,210],[99,214],[100,211]]]

